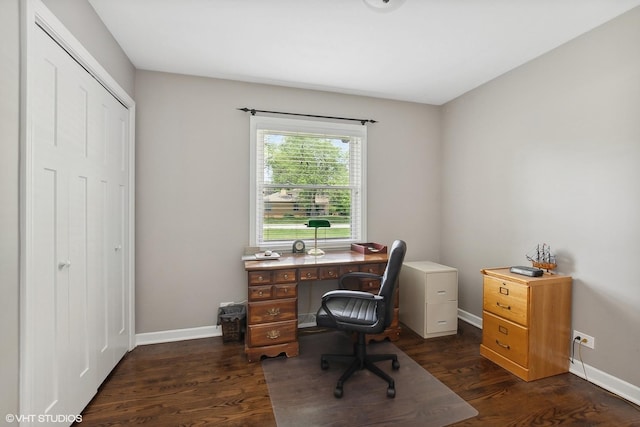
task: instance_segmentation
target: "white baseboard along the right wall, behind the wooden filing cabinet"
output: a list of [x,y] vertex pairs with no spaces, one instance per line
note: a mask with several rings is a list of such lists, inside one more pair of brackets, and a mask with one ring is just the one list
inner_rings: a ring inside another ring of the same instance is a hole
[[[482,329],[482,318],[471,314],[467,311],[458,309],[458,319],[463,320],[470,325]],[[628,400],[629,402],[640,405],[640,387],[630,384],[620,378],[614,377],[586,363],[583,364],[579,360],[569,365],[569,372],[586,379],[592,384],[602,387],[611,393]],[[585,377],[586,372],[586,377]]]

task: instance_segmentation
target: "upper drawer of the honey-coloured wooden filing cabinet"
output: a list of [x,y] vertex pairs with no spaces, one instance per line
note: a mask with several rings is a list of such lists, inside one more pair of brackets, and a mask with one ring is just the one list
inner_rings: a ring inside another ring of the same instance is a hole
[[505,319],[529,325],[529,287],[520,283],[484,277],[483,308]]

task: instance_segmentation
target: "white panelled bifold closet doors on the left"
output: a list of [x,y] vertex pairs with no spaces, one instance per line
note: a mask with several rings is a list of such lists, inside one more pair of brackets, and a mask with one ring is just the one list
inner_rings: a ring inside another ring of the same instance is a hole
[[34,36],[29,413],[79,414],[128,348],[128,111],[44,31]]

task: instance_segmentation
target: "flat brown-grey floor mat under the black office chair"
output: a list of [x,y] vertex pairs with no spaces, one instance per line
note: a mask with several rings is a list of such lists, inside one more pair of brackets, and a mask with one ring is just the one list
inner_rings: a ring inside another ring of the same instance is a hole
[[396,397],[387,397],[387,384],[367,370],[356,372],[344,385],[344,396],[333,396],[346,365],[332,362],[320,368],[321,353],[349,353],[350,337],[323,332],[300,337],[298,357],[262,361],[278,427],[300,426],[430,426],[440,427],[478,415],[433,375],[394,344],[371,343],[370,353],[396,353],[400,369],[391,362],[378,366],[395,380]]

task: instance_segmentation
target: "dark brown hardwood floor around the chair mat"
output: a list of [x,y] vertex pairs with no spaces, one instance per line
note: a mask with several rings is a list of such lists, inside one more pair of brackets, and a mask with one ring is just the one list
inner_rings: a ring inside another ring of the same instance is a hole
[[[640,408],[573,374],[518,379],[480,356],[481,334],[459,322],[455,336],[423,340],[403,328],[396,342],[478,410],[456,426],[640,426]],[[137,347],[82,417],[80,427],[276,425],[261,364],[221,337]]]

